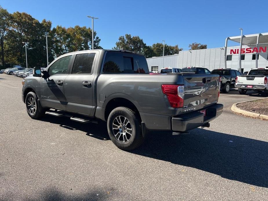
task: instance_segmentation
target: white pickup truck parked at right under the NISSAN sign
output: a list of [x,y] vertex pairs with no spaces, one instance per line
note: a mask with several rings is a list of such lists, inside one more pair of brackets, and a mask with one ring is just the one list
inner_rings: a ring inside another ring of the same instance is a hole
[[268,69],[253,68],[247,75],[236,77],[235,87],[238,88],[240,94],[246,94],[247,91],[266,92],[268,93]]

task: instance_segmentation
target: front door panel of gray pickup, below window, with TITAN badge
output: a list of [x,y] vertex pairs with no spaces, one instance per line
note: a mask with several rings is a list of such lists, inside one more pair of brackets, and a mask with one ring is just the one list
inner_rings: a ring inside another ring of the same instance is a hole
[[43,107],[65,110],[64,80],[67,75],[53,75],[40,81],[40,101]]

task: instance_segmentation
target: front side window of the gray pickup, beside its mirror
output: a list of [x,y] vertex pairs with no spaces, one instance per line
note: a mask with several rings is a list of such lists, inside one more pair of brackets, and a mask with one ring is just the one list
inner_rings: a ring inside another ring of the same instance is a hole
[[55,61],[48,69],[49,76],[55,74],[67,74],[71,57],[72,55],[69,55]]

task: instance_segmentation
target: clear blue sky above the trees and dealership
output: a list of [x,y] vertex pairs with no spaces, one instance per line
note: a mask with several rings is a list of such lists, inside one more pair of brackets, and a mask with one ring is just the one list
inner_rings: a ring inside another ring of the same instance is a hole
[[[0,5],[13,13],[52,21],[52,26],[91,27],[87,15],[99,17],[94,30],[100,45],[111,49],[126,33],[140,36],[147,45],[161,43],[188,50],[193,42],[208,48],[223,47],[225,38],[268,32],[268,1],[17,1],[2,0]],[[265,8],[264,10],[260,8]],[[238,45],[238,43],[233,43]],[[232,44],[230,44],[232,45]]]

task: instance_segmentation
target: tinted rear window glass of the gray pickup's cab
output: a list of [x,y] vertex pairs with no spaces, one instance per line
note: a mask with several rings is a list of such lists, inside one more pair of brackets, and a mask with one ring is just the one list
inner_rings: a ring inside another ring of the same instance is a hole
[[149,73],[144,56],[137,54],[107,52],[103,65],[104,73]]

